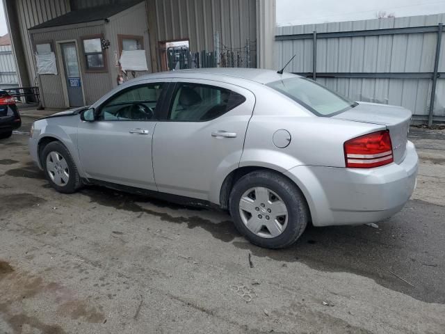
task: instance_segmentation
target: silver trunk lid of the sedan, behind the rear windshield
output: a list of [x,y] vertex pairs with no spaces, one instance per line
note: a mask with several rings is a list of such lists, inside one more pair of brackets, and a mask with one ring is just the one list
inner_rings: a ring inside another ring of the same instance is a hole
[[406,144],[412,113],[401,106],[389,106],[369,102],[357,102],[353,109],[339,113],[334,118],[385,125],[391,136],[394,162],[405,159]]

